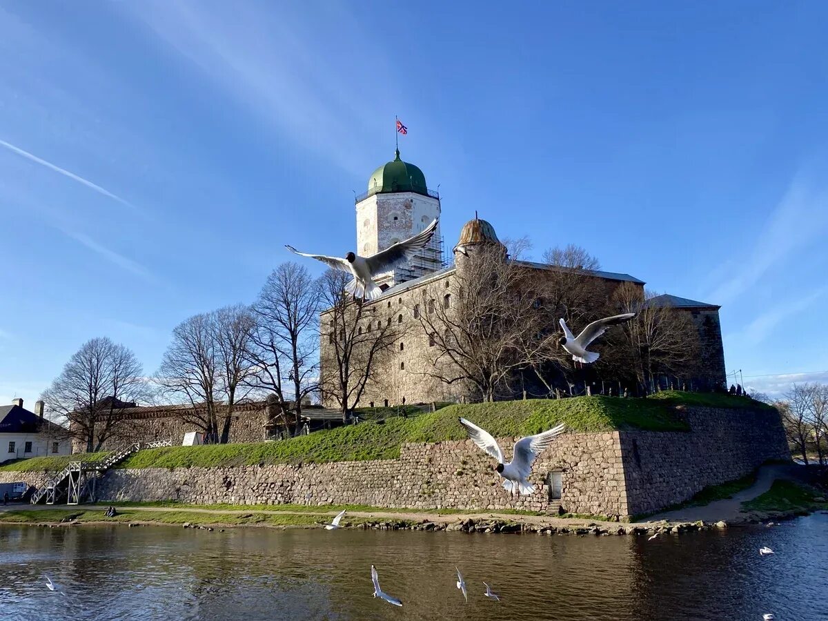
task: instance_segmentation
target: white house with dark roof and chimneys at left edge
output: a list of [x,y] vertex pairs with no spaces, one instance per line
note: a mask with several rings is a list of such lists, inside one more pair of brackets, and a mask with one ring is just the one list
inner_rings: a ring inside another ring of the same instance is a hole
[[43,418],[42,401],[35,403],[35,412],[26,410],[22,399],[0,406],[0,463],[71,452],[66,430]]

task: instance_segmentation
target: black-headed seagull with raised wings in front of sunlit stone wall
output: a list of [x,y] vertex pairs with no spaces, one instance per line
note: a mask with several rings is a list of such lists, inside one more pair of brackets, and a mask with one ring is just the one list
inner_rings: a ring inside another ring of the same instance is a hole
[[506,479],[503,481],[503,489],[511,493],[519,491],[522,494],[535,491],[535,486],[527,481],[529,474],[532,474],[532,462],[537,455],[540,455],[542,450],[551,445],[556,436],[560,436],[566,429],[564,424],[561,423],[552,427],[549,431],[537,434],[537,436],[527,436],[517,440],[512,461],[505,464],[503,463],[503,451],[500,450],[497,440],[494,440],[489,431],[481,429],[473,422],[465,420],[465,418],[460,418],[460,425],[465,427],[469,438],[474,440],[474,444],[498,460],[498,474]]

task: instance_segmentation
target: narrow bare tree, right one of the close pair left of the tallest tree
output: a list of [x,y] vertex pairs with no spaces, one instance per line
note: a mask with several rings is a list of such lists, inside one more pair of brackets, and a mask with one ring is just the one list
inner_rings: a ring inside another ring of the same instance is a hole
[[212,314],[214,351],[219,370],[219,385],[224,400],[224,421],[219,442],[227,444],[236,403],[247,395],[248,378],[255,368],[248,358],[256,320],[248,306],[224,306]]

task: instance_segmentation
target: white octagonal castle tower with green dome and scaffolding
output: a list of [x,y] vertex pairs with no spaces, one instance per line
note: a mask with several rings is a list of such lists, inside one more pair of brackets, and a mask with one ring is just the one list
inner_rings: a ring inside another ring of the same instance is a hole
[[[357,253],[364,257],[419,233],[439,218],[440,195],[428,189],[426,176],[413,164],[402,161],[397,149],[392,161],[373,171],[368,191],[356,197],[356,211]],[[431,243],[412,262],[375,280],[384,291],[444,266],[438,224]]]

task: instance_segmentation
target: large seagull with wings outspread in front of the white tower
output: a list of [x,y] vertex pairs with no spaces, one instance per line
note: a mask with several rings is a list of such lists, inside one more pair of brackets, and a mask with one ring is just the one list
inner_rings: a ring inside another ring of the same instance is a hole
[[428,245],[436,229],[437,220],[435,219],[420,233],[404,239],[402,242],[397,242],[385,250],[372,254],[370,257],[360,257],[356,253],[348,253],[345,258],[325,257],[322,254],[300,253],[293,246],[286,245],[285,248],[302,257],[315,258],[328,267],[339,270],[339,272],[352,274],[354,280],[345,286],[345,291],[356,298],[358,297],[357,292],[362,290],[363,300],[376,300],[383,295],[383,291],[373,282],[373,278],[411,261],[417,252]]

